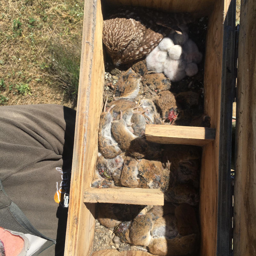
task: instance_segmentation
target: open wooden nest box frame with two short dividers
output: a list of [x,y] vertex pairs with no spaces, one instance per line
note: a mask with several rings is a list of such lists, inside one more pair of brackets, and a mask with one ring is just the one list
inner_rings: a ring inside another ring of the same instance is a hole
[[[181,127],[166,125],[147,127],[146,136],[152,141],[160,138],[163,143],[203,146],[199,204],[200,255],[230,255],[231,117],[236,67],[234,0],[85,1],[65,255],[90,255],[94,240],[95,202],[163,204],[163,196],[158,189],[90,187],[97,160],[99,117],[103,104],[102,10],[107,5],[140,5],[162,11],[190,12],[196,17],[208,16],[204,112],[211,117],[215,136],[212,129],[187,127],[188,130],[184,132]],[[171,129],[176,129],[176,137],[171,135]]]

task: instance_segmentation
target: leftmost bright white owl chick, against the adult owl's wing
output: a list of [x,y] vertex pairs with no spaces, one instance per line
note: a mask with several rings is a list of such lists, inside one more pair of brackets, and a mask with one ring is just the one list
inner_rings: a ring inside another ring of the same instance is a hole
[[147,69],[157,73],[163,72],[163,63],[167,58],[167,52],[161,51],[158,46],[146,57]]

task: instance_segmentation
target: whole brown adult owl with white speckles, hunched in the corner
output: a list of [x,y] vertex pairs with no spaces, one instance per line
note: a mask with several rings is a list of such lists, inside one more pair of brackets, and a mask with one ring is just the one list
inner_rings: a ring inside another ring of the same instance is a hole
[[126,64],[144,57],[170,31],[191,21],[189,14],[123,6],[104,20],[102,39],[114,64]]

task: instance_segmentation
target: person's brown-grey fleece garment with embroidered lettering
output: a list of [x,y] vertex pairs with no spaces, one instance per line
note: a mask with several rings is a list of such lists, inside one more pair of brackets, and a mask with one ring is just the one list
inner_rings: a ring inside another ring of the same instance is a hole
[[35,229],[57,238],[55,255],[63,254],[67,209],[54,195],[69,193],[75,115],[60,105],[0,107],[0,180]]

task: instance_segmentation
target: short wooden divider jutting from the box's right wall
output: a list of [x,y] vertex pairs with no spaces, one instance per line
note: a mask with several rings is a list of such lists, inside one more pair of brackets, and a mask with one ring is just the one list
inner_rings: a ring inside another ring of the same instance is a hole
[[214,128],[146,124],[146,140],[161,144],[203,146],[215,139]]

